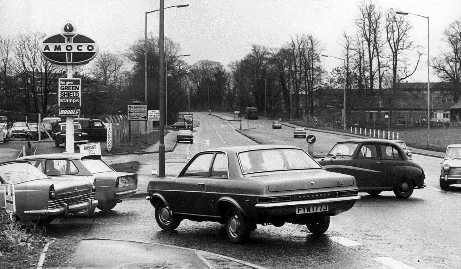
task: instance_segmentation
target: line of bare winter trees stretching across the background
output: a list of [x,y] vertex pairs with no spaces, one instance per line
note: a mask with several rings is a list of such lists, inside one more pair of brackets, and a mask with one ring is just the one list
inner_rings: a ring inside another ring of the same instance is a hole
[[[343,107],[344,88],[347,115],[364,96],[380,96],[388,99],[392,118],[400,94],[397,83],[417,70],[423,47],[411,39],[408,16],[393,9],[383,11],[377,2],[368,0],[360,2],[357,11],[355,32],[344,32],[338,38],[343,49],[331,55],[339,59],[330,75],[322,65],[326,45],[313,34],[293,35],[281,47],[252,45],[247,55],[227,66],[212,60],[186,64],[179,43],[165,38],[167,83],[163,90],[167,93],[168,123],[175,121],[180,111],[243,111],[247,106],[273,117],[336,117]],[[38,52],[44,36],[41,32],[0,36],[0,110],[55,113],[57,89],[53,83],[62,70]],[[447,26],[443,41],[446,46],[431,58],[431,68],[442,82],[454,85],[449,91],[457,102],[461,18]],[[24,76],[30,73],[32,79]],[[145,76],[148,109],[157,110],[159,38],[150,33],[147,41],[139,38],[124,52],[102,52],[77,74],[106,87],[106,91],[87,94],[86,99],[83,94],[85,114],[126,113],[131,99],[145,99]],[[24,79],[18,82],[21,76]]]

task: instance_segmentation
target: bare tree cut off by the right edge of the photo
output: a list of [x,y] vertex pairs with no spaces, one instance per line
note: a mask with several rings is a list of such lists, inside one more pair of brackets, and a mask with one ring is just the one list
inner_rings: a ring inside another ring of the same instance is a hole
[[449,49],[441,51],[433,60],[432,67],[443,82],[453,83],[451,94],[453,101],[458,102],[461,94],[461,19],[451,23],[444,31],[444,40]]

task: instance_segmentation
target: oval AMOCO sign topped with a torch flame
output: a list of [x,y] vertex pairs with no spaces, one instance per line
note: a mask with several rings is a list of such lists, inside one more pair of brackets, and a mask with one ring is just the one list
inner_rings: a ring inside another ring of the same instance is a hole
[[73,68],[87,64],[96,57],[99,45],[85,35],[77,34],[71,22],[67,22],[60,34],[47,36],[40,43],[40,53],[53,64]]

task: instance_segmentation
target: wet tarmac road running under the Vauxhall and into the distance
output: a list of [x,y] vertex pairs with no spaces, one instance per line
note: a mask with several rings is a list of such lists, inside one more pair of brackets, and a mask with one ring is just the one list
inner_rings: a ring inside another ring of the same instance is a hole
[[[256,143],[235,130],[239,122],[206,113],[194,113],[194,118],[201,124],[194,132],[194,143],[177,144],[174,152],[166,154],[166,162],[173,155],[188,159],[207,148]],[[307,149],[305,139],[293,138],[292,128],[272,129],[271,121],[265,119],[248,123],[246,130],[242,122],[242,132],[260,142]],[[315,155],[325,155],[336,141],[349,138],[312,134],[317,138]],[[96,211],[90,218],[58,219],[47,233],[68,240],[99,237],[189,247],[267,268],[460,268],[461,235],[456,228],[461,220],[461,188],[440,190],[440,159],[414,155],[413,160],[425,169],[428,187],[415,190],[409,199],[397,199],[392,192],[378,198],[360,193],[362,199],[351,210],[332,217],[322,237],[313,237],[302,225],[258,225],[247,244],[234,245],[226,239],[222,225],[188,220],[176,231],[165,232],[155,223],[154,209],[144,199],[125,199],[113,211]]]

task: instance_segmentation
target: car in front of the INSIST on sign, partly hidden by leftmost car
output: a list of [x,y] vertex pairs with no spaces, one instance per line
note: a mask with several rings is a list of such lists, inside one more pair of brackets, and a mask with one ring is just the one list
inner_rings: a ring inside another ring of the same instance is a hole
[[[96,200],[99,201],[97,207],[101,211],[111,210],[122,199],[138,191],[138,175],[116,172],[97,154],[63,152],[19,159],[29,161],[53,179],[88,181],[89,178],[95,178]],[[79,213],[81,216],[89,216],[93,211],[95,207]]]

